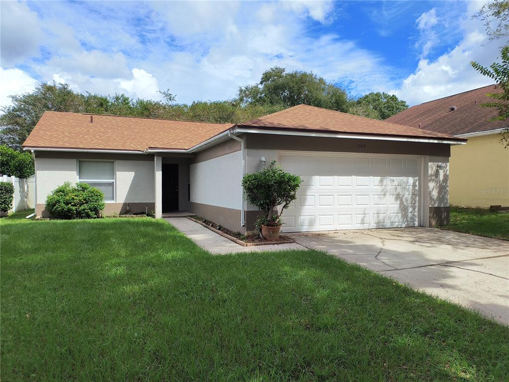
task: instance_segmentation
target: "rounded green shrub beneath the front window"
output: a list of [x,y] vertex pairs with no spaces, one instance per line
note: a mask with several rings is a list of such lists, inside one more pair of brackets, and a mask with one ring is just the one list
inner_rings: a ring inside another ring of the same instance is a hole
[[104,195],[87,183],[65,182],[48,195],[46,209],[57,219],[94,219],[101,217]]

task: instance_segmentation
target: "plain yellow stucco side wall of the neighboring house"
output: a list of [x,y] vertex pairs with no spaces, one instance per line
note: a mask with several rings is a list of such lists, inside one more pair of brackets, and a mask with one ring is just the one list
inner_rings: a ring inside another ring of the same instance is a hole
[[509,148],[499,141],[499,133],[481,135],[451,148],[451,205],[509,206]]

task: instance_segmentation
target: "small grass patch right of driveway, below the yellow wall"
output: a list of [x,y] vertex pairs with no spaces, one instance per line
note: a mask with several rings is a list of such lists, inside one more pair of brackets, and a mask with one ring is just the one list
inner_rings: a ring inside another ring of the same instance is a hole
[[438,227],[447,231],[509,240],[509,213],[483,208],[450,208],[450,224]]

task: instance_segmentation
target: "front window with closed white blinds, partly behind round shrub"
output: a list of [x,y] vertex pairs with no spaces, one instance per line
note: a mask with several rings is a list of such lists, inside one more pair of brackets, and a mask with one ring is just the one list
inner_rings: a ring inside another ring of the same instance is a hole
[[78,182],[99,188],[105,201],[115,200],[115,162],[78,160]]

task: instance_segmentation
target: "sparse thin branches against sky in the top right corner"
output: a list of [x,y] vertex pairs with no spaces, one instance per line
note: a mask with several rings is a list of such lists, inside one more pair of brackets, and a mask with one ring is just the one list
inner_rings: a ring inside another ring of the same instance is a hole
[[509,36],[509,1],[507,0],[496,0],[483,5],[472,18],[485,22],[490,41]]

